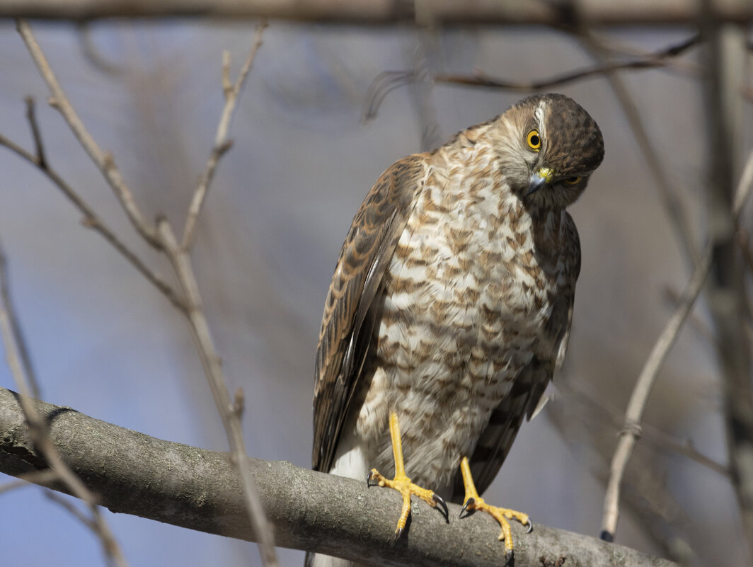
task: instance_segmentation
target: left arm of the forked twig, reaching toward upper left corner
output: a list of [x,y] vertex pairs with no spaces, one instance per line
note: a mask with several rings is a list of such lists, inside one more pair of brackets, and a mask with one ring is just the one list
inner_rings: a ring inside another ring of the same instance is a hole
[[21,38],[23,38],[26,48],[34,59],[34,62],[39,69],[41,77],[44,82],[47,83],[47,88],[50,89],[50,105],[56,108],[66,122],[68,123],[72,133],[81,143],[81,146],[89,154],[94,164],[105,176],[108,184],[114,191],[120,204],[126,212],[131,224],[141,234],[149,244],[159,247],[159,239],[157,239],[157,231],[154,226],[148,223],[139,207],[136,205],[136,200],[133,198],[133,193],[128,188],[123,176],[120,175],[120,170],[112,159],[111,154],[102,151],[99,145],[92,138],[90,133],[84,127],[84,123],[81,122],[81,118],[78,117],[76,111],[73,109],[71,103],[66,96],[66,93],[60,87],[55,74],[50,69],[50,64],[47,62],[47,58],[42,53],[41,47],[37,43],[32,29],[29,27],[29,23],[26,20],[20,18],[16,20],[16,29],[18,30]]

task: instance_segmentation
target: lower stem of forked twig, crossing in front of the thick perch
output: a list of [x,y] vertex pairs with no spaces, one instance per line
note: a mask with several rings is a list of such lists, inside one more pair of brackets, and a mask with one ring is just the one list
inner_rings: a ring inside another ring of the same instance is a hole
[[264,514],[264,508],[261,507],[259,495],[248,468],[248,455],[245,453],[240,412],[235,410],[236,405],[233,404],[230,392],[227,390],[221,360],[215,348],[212,333],[209,331],[209,323],[202,310],[202,300],[194,277],[194,269],[191,266],[191,258],[188,251],[178,245],[175,234],[166,219],[161,218],[157,221],[157,230],[162,240],[162,248],[175,270],[175,275],[178,276],[178,282],[186,297],[187,309],[184,312],[194,335],[194,342],[209,382],[209,389],[212,390],[212,396],[215,398],[215,404],[227,434],[233,462],[242,480],[243,495],[251,518],[252,529],[259,543],[261,560],[267,567],[276,567],[278,562],[272,528]]

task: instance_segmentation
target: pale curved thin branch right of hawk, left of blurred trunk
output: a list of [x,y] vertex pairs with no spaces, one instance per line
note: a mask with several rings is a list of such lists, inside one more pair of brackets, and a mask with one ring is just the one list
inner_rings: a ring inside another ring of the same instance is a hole
[[614,457],[611,462],[611,473],[607,485],[607,492],[604,500],[604,517],[602,519],[602,539],[612,541],[614,532],[617,529],[617,519],[619,517],[620,506],[620,483],[625,472],[625,468],[630,455],[633,453],[640,434],[640,422],[643,416],[643,410],[648,402],[648,395],[656,382],[659,370],[664,363],[669,349],[675,343],[685,319],[690,314],[698,294],[706,282],[709,275],[712,259],[712,248],[709,246],[703,253],[700,263],[694,270],[690,282],[685,288],[682,299],[666,323],[663,331],[657,339],[651,354],[646,360],[643,370],[640,373],[633,394],[630,395],[630,402],[625,411],[625,422],[623,431],[620,433],[620,440],[617,441],[617,449],[614,451]]

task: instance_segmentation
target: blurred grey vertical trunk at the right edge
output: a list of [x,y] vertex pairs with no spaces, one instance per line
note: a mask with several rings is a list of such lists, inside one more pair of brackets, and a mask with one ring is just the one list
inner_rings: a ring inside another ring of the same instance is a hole
[[[703,7],[708,9],[709,2]],[[736,215],[744,194],[735,199],[735,175],[740,169],[742,105],[739,87],[745,69],[742,29],[719,26],[703,14],[702,32],[709,37],[706,53],[709,227],[714,269],[707,297],[714,322],[715,349],[721,370],[721,395],[727,429],[727,454],[732,486],[742,517],[741,531],[753,553],[753,386],[751,348],[745,319],[744,264],[736,249]],[[745,189],[742,189],[745,191]],[[733,210],[733,207],[735,209]]]

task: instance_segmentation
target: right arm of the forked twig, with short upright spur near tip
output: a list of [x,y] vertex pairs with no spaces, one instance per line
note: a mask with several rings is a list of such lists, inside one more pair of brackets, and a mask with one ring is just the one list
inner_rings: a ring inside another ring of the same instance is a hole
[[212,153],[209,154],[209,160],[206,163],[204,172],[199,178],[199,185],[194,192],[193,199],[191,199],[191,205],[188,206],[181,248],[191,248],[194,241],[194,234],[196,233],[196,224],[199,218],[199,213],[201,212],[201,207],[206,198],[206,193],[209,191],[209,184],[212,183],[212,178],[215,175],[215,169],[217,169],[217,164],[219,163],[220,158],[230,149],[230,146],[233,143],[232,140],[227,139],[227,132],[230,129],[230,118],[233,116],[233,110],[235,109],[240,90],[245,83],[245,78],[248,76],[248,72],[251,71],[251,66],[254,63],[256,53],[258,52],[259,47],[261,47],[261,38],[264,33],[264,28],[266,27],[267,20],[262,20],[257,26],[251,50],[245,58],[245,62],[243,63],[243,67],[235,84],[230,82],[230,52],[224,51],[222,53],[222,90],[225,96],[225,105],[222,108],[220,121],[217,125],[217,133],[215,133],[215,145],[212,148]]

